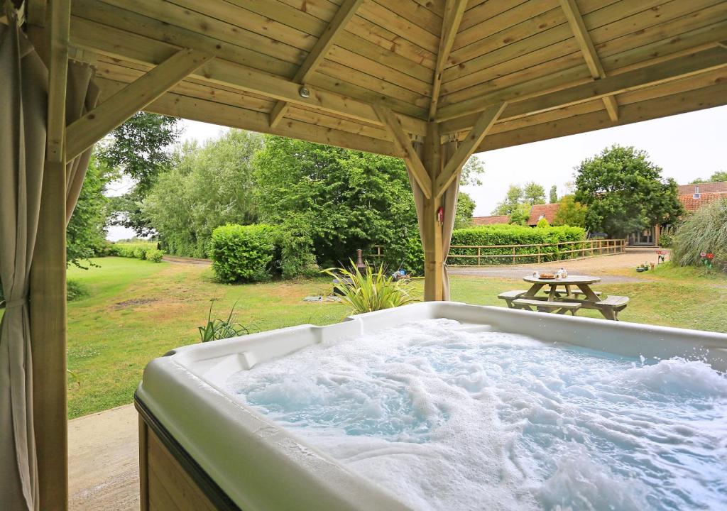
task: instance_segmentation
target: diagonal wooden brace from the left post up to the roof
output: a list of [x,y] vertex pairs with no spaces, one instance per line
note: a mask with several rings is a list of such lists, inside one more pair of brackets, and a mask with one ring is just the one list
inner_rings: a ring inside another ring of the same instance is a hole
[[79,156],[211,58],[206,53],[182,49],[73,122],[66,131],[68,160]]

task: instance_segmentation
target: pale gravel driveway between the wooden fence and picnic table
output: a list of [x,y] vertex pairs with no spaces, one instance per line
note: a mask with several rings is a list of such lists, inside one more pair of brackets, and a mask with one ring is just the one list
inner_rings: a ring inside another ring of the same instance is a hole
[[478,275],[486,278],[520,278],[523,273],[534,271],[555,273],[558,268],[564,267],[569,273],[583,273],[597,275],[603,283],[608,282],[642,282],[645,279],[619,275],[622,270],[632,270],[643,262],[656,263],[655,248],[626,249],[625,254],[590,257],[589,259],[575,259],[573,261],[558,261],[533,265],[507,265],[507,266],[480,266],[457,267],[448,266],[449,275]]

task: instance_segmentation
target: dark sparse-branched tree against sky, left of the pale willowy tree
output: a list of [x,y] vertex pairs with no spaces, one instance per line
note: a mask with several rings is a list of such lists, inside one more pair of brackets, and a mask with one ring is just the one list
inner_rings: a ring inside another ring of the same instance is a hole
[[167,148],[180,137],[178,121],[176,117],[138,112],[100,144],[100,161],[134,182],[129,192],[112,198],[112,224],[132,228],[139,236],[154,232],[141,203],[159,174],[169,170],[172,159]]

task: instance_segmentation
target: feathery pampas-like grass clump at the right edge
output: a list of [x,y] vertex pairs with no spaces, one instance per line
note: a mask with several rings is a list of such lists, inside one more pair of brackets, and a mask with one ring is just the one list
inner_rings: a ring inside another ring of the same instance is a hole
[[713,265],[727,267],[727,199],[710,202],[690,214],[678,227],[672,261],[680,266],[697,265],[702,252],[715,254]]

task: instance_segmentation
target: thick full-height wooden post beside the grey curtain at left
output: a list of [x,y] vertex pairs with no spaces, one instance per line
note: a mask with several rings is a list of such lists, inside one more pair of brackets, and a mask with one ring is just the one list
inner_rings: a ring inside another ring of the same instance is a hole
[[33,422],[41,510],[68,509],[65,326],[65,92],[70,0],[49,4],[30,35],[49,68],[48,136],[36,246],[31,262]]

